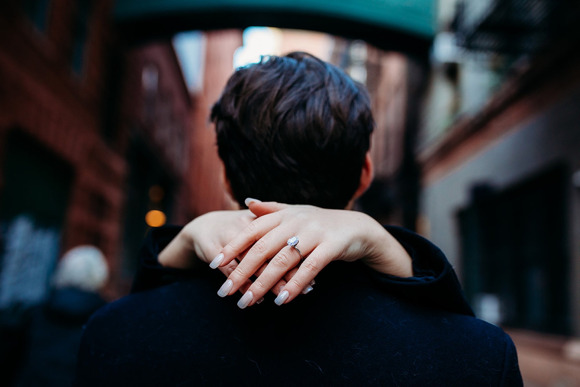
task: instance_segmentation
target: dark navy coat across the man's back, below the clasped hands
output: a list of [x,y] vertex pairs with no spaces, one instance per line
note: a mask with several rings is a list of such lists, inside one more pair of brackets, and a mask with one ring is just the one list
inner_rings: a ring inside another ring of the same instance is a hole
[[[216,295],[222,273],[155,265],[155,251],[176,230],[158,230],[147,241],[157,247],[144,248],[150,265],[137,292],[89,321],[75,385],[522,385],[516,349],[501,328],[470,316],[468,305],[421,299],[435,291],[452,296],[456,277],[437,248],[427,251],[407,230],[389,229],[413,250],[416,274],[429,275],[398,281],[358,262],[332,262],[309,294],[282,306],[269,294],[243,310],[241,294]],[[155,288],[171,276],[180,278]],[[411,296],[401,295],[408,289]],[[455,292],[465,302],[461,288]]]

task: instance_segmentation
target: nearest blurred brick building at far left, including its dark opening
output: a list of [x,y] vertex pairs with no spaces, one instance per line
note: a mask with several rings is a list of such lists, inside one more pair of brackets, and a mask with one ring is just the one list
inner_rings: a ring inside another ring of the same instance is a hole
[[[42,299],[60,251],[97,245],[111,265],[118,254],[126,166],[103,138],[101,118],[112,6],[111,1],[0,5],[6,305]],[[13,280],[35,287],[27,299],[9,290],[14,273],[6,269],[7,255],[23,269]]]

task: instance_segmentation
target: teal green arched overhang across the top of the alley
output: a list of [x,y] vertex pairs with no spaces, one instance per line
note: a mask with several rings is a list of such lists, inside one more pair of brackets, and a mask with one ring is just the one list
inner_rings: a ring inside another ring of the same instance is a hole
[[[254,17],[250,19],[252,25],[262,26],[280,24],[276,21],[283,20],[285,13],[331,17],[358,26],[386,28],[431,39],[434,34],[436,0],[117,0],[115,19],[119,24],[184,15],[213,15],[217,19],[221,12],[241,15],[241,19],[253,13]],[[256,20],[255,15],[266,16],[263,23],[255,23],[261,20]],[[271,20],[274,21],[269,23]],[[216,22],[223,26],[220,20]],[[204,28],[207,29],[205,25]],[[191,29],[196,28],[191,26]]]

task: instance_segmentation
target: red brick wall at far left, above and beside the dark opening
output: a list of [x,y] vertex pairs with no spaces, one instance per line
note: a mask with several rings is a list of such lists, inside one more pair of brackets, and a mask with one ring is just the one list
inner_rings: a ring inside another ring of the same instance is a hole
[[[112,2],[95,2],[90,13],[80,74],[70,67],[74,6],[71,0],[49,2],[46,29],[38,31],[19,2],[0,5],[0,152],[6,154],[7,134],[17,129],[73,167],[62,252],[97,245],[114,278],[125,162],[102,140],[99,115]],[[0,171],[4,162],[2,157]]]

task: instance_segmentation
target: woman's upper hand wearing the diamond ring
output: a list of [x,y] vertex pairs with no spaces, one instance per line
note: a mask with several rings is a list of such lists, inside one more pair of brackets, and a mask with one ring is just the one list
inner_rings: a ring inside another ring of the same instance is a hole
[[[412,276],[411,258],[405,249],[368,215],[310,205],[247,204],[258,218],[248,223],[211,265],[227,266],[247,251],[218,292],[222,296],[234,294],[251,276],[258,276],[238,302],[240,308],[260,300],[282,277],[291,278],[282,291],[274,291],[279,292],[275,302],[282,305],[292,301],[300,292],[312,290],[310,283],[316,274],[338,259],[364,259],[379,272]],[[298,251],[287,245],[293,236],[299,239],[296,248],[305,258],[302,263]]]

